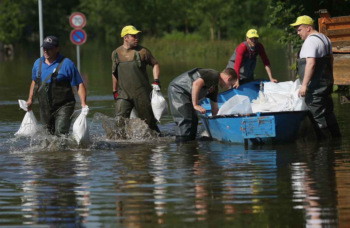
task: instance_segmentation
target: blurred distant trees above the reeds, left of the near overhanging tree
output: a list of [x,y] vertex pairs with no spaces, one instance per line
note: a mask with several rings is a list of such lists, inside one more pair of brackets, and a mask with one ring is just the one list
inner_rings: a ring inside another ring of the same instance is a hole
[[[68,37],[71,13],[85,14],[84,29],[89,38],[114,40],[129,24],[143,36],[197,34],[197,40],[244,37],[250,28],[266,27],[269,0],[42,0],[44,36]],[[2,0],[0,40],[37,39],[39,34],[37,0]],[[6,36],[6,37],[5,37]]]

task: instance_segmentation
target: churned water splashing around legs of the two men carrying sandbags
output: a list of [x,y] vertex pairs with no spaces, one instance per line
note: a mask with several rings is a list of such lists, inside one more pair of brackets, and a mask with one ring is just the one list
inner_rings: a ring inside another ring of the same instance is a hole
[[35,153],[40,151],[101,151],[113,150],[131,144],[162,144],[174,141],[174,134],[162,134],[149,129],[145,121],[139,118],[112,118],[102,113],[95,113],[89,124],[90,144],[75,141],[72,134],[55,136],[37,126],[31,136],[10,135],[5,142],[0,143],[0,152]]

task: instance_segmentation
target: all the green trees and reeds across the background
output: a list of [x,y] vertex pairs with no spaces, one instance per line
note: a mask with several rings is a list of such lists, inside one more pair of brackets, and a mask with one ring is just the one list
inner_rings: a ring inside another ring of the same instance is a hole
[[[153,42],[153,48],[173,56],[216,56],[231,52],[243,41],[246,31],[255,28],[260,40],[278,40],[294,55],[303,41],[290,23],[298,16],[309,15],[318,29],[319,15],[315,11],[328,9],[331,16],[349,15],[350,1],[42,0],[42,8],[44,36],[69,37],[69,16],[78,11],[86,16],[84,30],[89,40],[116,41],[124,26],[133,25],[142,31],[142,37]],[[38,38],[38,0],[2,0],[0,43]],[[163,42],[157,42],[159,38]],[[172,46],[182,49],[169,49]],[[295,69],[295,64],[290,68]]]

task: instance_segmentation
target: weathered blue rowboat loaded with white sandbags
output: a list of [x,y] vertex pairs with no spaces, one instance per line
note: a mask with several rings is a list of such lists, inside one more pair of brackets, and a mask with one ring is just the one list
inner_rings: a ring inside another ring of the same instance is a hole
[[[267,80],[257,79],[238,89],[231,88],[219,93],[219,108],[236,94],[246,95],[252,102],[257,99],[260,87],[265,82]],[[289,143],[313,134],[308,110],[209,116],[209,99],[204,98],[199,104],[207,110],[199,116],[204,129],[214,140],[244,144]]]

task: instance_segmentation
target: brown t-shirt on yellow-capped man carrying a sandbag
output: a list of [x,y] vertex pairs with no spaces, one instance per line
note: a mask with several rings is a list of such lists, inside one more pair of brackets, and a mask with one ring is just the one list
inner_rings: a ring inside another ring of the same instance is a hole
[[[119,48],[117,48],[117,53],[120,61],[131,61],[134,59],[135,51],[138,51],[140,54],[140,60],[145,61],[148,65],[152,66],[157,62],[157,60],[153,57],[152,53],[145,47],[142,47],[141,45],[137,45],[136,47],[133,47],[131,49],[126,49],[121,45]],[[113,52],[112,52],[112,61],[114,62],[113,58]],[[118,63],[118,59],[116,59],[116,62]],[[113,64],[112,64],[112,71],[113,71]]]

